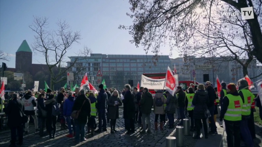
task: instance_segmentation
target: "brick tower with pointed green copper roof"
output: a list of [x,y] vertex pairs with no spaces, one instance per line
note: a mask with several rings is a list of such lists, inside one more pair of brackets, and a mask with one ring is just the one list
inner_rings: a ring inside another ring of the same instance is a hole
[[15,68],[17,71],[30,71],[32,51],[26,40],[22,42],[15,53]]

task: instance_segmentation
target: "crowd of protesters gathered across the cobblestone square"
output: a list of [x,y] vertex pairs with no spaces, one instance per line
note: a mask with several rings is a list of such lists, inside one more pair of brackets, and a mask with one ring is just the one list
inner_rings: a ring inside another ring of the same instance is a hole
[[[103,89],[101,84],[98,86],[98,93],[80,88],[76,88],[75,91],[66,91],[64,88],[60,91],[52,91],[49,88],[39,92],[28,90],[26,93],[13,93],[11,96],[7,93],[4,112],[8,117],[8,127],[11,129],[10,146],[16,146],[17,136],[18,145],[23,144],[23,134],[31,131],[28,130],[30,118],[34,120],[35,133],[40,137],[49,136],[50,139],[56,138],[57,122],[60,122],[61,129],[68,129],[66,137],[74,138],[76,143],[85,141],[86,133],[94,135],[107,131],[107,123],[110,124],[110,133],[114,134],[117,132],[116,123],[119,119],[119,107],[122,105],[126,134],[135,133],[135,124],[141,126],[141,134],[151,133],[151,112],[155,114],[155,131],[158,131],[158,127],[160,131],[165,128],[173,129],[174,115],[177,113],[176,119],[181,120],[178,125],[183,125],[182,119],[186,116],[190,118],[190,131],[196,131],[193,138],[200,139],[200,131],[203,128],[204,137],[207,139],[208,136],[217,134],[215,124],[219,102],[217,92],[211,82],[190,86],[186,91],[178,86],[174,95],[168,91],[158,90],[154,97],[148,88],[131,89],[129,84],[124,86],[123,91]],[[249,99],[248,102],[244,102],[248,93],[245,91],[248,89],[247,82],[245,79],[239,80],[239,92],[234,84],[226,85],[223,82],[222,86],[224,90],[221,91],[220,121],[225,121],[228,146],[240,146],[241,136],[245,146],[254,146],[254,111]],[[231,95],[240,96],[241,106],[250,104],[251,112],[247,115],[242,114],[240,120],[232,121],[227,115]],[[257,106],[261,107],[259,102],[257,101]]]

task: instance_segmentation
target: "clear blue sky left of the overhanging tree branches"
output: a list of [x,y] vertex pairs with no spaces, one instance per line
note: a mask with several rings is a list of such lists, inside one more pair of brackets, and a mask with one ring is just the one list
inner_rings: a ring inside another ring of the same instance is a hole
[[[32,49],[34,35],[29,26],[33,16],[47,17],[48,29],[57,29],[56,22],[65,20],[72,31],[80,31],[80,44],[73,44],[67,56],[76,55],[79,49],[89,47],[92,53],[144,55],[142,47],[129,43],[132,36],[119,25],[132,25],[126,16],[128,0],[1,0],[0,1],[0,50],[8,54],[8,67],[15,67],[15,52],[23,40]],[[152,53],[149,52],[149,55]],[[162,55],[169,55],[167,47],[161,48]],[[178,57],[173,51],[171,58]],[[45,59],[33,52],[33,63],[45,64]]]

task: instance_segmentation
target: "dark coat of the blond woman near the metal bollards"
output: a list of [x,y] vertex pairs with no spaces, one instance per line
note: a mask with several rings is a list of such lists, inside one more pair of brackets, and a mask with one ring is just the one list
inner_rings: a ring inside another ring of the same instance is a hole
[[207,105],[209,104],[207,91],[195,91],[192,104],[195,106],[193,111],[193,119],[206,119],[205,110],[207,109]]

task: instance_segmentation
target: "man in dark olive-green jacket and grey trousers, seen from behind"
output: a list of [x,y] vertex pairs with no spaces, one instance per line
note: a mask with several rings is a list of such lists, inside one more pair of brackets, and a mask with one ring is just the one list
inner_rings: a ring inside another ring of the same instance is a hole
[[[144,94],[140,100],[141,112],[142,112],[142,124],[143,130],[142,134],[145,134],[146,124],[148,124],[147,133],[151,133],[151,122],[150,122],[150,114],[153,106],[153,96],[150,92],[148,92],[148,88],[144,88]],[[146,123],[147,122],[147,123]]]

